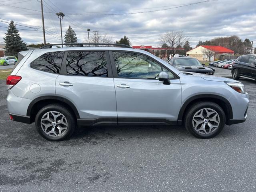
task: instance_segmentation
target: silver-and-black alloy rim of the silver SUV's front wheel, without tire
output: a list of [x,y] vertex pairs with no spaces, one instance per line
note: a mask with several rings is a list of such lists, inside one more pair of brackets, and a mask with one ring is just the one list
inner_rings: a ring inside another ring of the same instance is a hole
[[200,134],[210,134],[220,125],[220,116],[211,108],[203,108],[194,115],[192,125]]

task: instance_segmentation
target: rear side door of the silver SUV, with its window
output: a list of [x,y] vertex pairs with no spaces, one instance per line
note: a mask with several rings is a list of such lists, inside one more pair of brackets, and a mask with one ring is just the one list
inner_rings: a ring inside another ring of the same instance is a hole
[[74,104],[81,123],[117,124],[116,94],[108,52],[65,52],[56,79],[56,96]]

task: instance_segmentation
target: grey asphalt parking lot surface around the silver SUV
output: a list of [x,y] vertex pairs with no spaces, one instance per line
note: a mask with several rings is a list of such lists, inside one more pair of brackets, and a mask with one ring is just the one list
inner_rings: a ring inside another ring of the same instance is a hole
[[[228,69],[216,76],[231,78]],[[197,139],[182,126],[102,126],[49,142],[9,120],[0,81],[1,191],[256,191],[256,82],[248,119]]]

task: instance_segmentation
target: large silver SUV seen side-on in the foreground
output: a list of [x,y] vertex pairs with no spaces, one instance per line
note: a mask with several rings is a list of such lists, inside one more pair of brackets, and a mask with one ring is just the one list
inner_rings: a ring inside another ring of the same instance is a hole
[[58,141],[77,126],[146,124],[212,138],[247,118],[249,96],[236,80],[182,73],[125,45],[83,45],[19,53],[6,80],[11,120]]

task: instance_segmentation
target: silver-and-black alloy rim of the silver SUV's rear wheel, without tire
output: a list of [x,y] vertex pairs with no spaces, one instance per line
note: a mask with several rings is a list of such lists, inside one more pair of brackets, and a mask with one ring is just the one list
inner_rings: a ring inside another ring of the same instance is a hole
[[68,128],[68,121],[62,113],[50,111],[42,116],[41,128],[49,136],[62,136]]

